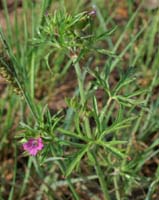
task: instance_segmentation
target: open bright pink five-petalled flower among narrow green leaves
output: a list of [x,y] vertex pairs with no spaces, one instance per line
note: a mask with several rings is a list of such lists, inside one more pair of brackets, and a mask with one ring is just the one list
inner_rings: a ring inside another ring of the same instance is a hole
[[36,156],[38,151],[43,148],[43,141],[39,138],[30,138],[26,143],[23,144],[23,148],[27,151],[30,155]]

